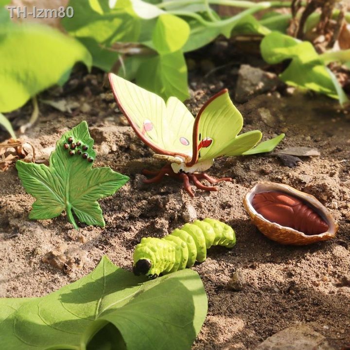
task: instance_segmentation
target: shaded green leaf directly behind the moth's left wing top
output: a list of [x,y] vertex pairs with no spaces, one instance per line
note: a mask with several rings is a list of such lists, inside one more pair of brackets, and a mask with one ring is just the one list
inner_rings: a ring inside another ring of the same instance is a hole
[[187,66],[181,51],[145,58],[140,64],[136,82],[142,88],[157,92],[167,100],[176,96],[184,101],[189,97]]

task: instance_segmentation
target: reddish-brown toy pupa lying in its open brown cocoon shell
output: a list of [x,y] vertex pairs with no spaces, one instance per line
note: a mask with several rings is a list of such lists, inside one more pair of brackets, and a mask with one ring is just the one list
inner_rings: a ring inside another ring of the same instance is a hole
[[288,185],[257,184],[246,194],[244,205],[259,230],[281,244],[326,241],[338,230],[322,203],[313,195]]

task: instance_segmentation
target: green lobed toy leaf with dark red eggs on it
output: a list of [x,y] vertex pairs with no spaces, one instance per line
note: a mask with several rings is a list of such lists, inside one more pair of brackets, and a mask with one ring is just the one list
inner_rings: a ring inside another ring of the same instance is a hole
[[78,229],[73,210],[80,222],[105,227],[97,200],[114,194],[129,178],[109,167],[91,169],[96,155],[93,143],[88,124],[81,122],[57,141],[50,166],[16,163],[25,190],[36,198],[30,219],[52,219],[66,210],[68,220]]

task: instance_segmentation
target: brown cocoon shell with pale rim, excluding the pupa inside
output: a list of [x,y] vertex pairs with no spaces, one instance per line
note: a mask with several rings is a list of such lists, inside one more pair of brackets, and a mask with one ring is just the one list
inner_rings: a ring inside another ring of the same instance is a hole
[[[282,226],[277,222],[272,222],[262,216],[253,206],[253,198],[257,194],[266,192],[282,192],[282,194],[294,197],[301,201],[306,210],[306,214],[311,212],[316,213],[321,221],[327,224],[328,228],[318,234],[305,234],[295,228]],[[255,226],[268,238],[284,245],[308,245],[319,241],[327,241],[332,239],[337,230],[338,225],[333,219],[333,216],[313,195],[298,191],[291,186],[278,183],[260,183],[255,185],[244,198],[244,206],[250,215],[250,218]]]

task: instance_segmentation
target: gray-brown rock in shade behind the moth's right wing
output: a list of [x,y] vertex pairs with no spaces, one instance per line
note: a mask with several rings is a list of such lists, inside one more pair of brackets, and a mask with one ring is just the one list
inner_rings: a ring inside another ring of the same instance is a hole
[[282,84],[276,74],[249,65],[242,65],[238,71],[235,100],[241,103],[246,102],[249,98],[275,90]]

